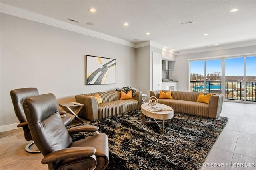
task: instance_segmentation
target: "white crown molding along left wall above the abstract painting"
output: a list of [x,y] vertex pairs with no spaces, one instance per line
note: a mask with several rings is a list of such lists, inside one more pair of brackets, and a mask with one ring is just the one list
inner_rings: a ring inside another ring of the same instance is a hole
[[130,41],[126,41],[126,40],[123,40],[123,39],[120,39],[120,38],[117,38],[117,37],[113,37],[113,36],[106,35],[106,34],[103,34],[103,33],[97,32],[97,31],[93,31],[93,30],[90,30],[90,29],[86,29],[86,28],[83,28],[83,27],[80,27],[80,26],[77,26],[77,25],[66,23],[64,21],[56,20],[56,19],[53,19],[53,18],[50,18],[50,17],[47,17],[47,16],[36,14],[34,12],[23,10],[21,8],[17,8],[17,7],[14,7],[14,6],[7,5],[7,4],[1,3],[1,8],[0,9],[1,9],[2,13],[9,14],[9,15],[12,15],[12,16],[17,16],[17,17],[20,17],[20,18],[25,18],[27,20],[32,20],[32,21],[44,23],[44,24],[47,24],[47,25],[52,25],[54,27],[59,27],[59,28],[66,29],[66,30],[69,30],[69,31],[74,31],[74,32],[77,32],[77,33],[81,33],[81,34],[84,34],[84,35],[91,36],[91,37],[96,37],[96,38],[99,38],[99,39],[104,39],[106,41],[111,41],[111,42],[114,42],[114,43],[126,45],[126,46],[129,46],[129,47],[135,47],[135,44],[130,42]]

